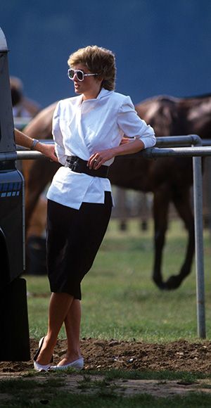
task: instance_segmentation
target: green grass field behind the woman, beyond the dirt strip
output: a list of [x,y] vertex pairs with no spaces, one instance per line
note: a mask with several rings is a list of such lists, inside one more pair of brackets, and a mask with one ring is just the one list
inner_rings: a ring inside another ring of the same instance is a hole
[[[165,279],[178,274],[184,259],[186,231],[171,222],[163,259]],[[204,234],[206,326],[211,337],[210,267],[208,231]],[[176,291],[160,291],[151,279],[153,226],[139,230],[136,220],[129,230],[119,231],[110,222],[94,266],[82,283],[82,337],[166,342],[179,338],[196,340],[196,276],[191,274]],[[46,331],[49,283],[46,276],[27,276],[30,336]],[[36,296],[34,296],[36,294]],[[60,338],[65,333],[61,331]]]

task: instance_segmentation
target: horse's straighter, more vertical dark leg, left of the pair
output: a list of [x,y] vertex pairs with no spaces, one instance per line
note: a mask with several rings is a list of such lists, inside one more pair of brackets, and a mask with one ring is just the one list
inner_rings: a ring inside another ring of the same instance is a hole
[[165,289],[162,281],[162,250],[165,245],[165,233],[167,231],[168,209],[170,204],[170,189],[168,186],[161,186],[154,192],[153,217],[154,217],[154,242],[155,259],[153,266],[153,281],[158,288]]

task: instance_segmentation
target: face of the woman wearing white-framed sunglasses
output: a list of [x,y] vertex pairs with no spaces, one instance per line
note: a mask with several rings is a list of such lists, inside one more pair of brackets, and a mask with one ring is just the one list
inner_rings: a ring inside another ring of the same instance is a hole
[[[75,65],[71,68],[74,70],[81,70],[84,72],[84,74],[92,73],[87,69],[87,67],[85,67],[85,65],[82,64]],[[95,73],[97,74],[98,72]],[[75,74],[72,82],[74,84],[75,93],[83,94],[84,99],[96,98],[101,90],[102,80],[99,80],[97,76],[84,77],[83,81],[79,81],[79,79],[77,79],[77,75]]]

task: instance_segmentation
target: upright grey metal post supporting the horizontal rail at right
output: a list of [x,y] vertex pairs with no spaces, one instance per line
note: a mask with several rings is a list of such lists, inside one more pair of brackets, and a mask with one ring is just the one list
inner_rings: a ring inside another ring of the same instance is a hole
[[206,337],[205,329],[205,279],[203,261],[203,178],[201,158],[193,157],[193,199],[196,245],[196,308],[198,336]]

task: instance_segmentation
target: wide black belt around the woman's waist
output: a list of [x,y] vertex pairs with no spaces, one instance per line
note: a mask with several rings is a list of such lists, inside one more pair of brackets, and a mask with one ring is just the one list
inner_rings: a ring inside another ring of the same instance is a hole
[[101,166],[98,170],[89,169],[87,167],[87,160],[82,160],[77,156],[68,156],[65,167],[70,167],[72,172],[85,173],[92,177],[103,177],[106,179],[108,176],[108,166]]

